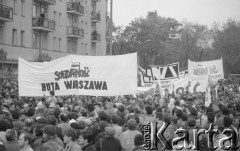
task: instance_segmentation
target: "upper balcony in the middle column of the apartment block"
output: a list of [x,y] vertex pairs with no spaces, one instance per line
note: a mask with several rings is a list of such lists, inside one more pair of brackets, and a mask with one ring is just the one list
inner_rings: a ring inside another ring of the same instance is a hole
[[68,2],[67,3],[67,12],[73,15],[83,16],[84,7],[79,3]]

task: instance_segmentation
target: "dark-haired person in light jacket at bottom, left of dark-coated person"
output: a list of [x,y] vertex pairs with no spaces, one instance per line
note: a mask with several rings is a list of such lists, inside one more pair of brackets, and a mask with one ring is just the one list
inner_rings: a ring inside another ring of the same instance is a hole
[[70,128],[66,131],[63,140],[66,144],[66,151],[81,151],[81,147],[77,144],[78,134],[77,131]]

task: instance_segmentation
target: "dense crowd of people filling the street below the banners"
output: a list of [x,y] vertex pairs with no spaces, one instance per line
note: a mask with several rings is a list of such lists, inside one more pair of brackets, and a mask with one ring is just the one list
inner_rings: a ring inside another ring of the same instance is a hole
[[[175,131],[230,128],[239,134],[239,83],[218,83],[216,99],[206,107],[205,94],[169,94],[154,99],[93,96],[18,97],[17,82],[1,85],[0,151],[142,151],[144,122],[171,122],[164,137]],[[225,134],[214,136],[214,145]],[[179,142],[181,144],[181,142]],[[198,150],[208,151],[207,136],[201,135]],[[179,145],[179,144],[178,144]],[[157,150],[176,150],[174,144],[158,142]],[[183,149],[184,150],[184,149]],[[189,150],[189,149],[187,149]],[[217,150],[221,150],[220,147]],[[236,150],[236,149],[235,149]]]

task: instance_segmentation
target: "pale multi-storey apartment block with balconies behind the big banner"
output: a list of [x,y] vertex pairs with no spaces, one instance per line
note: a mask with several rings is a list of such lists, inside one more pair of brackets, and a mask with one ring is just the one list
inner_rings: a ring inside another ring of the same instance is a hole
[[17,79],[18,57],[106,55],[107,0],[0,0],[0,81]]

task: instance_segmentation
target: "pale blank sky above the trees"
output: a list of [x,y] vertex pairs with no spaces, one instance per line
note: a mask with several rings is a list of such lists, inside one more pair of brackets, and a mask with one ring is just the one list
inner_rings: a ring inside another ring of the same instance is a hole
[[240,0],[113,0],[113,22],[126,26],[155,10],[159,16],[187,19],[209,27],[228,18],[240,21]]

